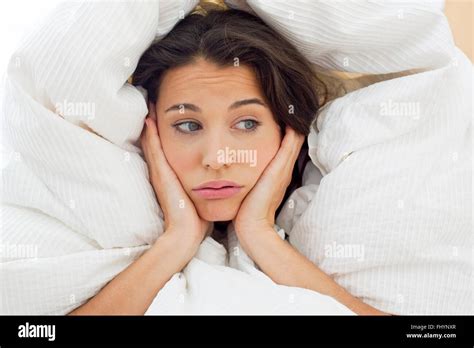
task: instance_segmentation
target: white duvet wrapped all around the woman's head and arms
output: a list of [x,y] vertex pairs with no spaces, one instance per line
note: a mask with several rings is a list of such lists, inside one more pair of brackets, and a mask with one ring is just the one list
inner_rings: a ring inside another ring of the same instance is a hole
[[[68,313],[163,233],[137,147],[146,103],[126,80],[195,4],[64,3],[12,57],[0,313]],[[472,67],[445,17],[427,3],[249,5],[321,70],[421,71],[321,110],[308,141],[324,177],[307,166],[276,233],[381,310],[472,313]],[[351,313],[274,284],[229,232],[229,252],[206,238],[147,314]]]

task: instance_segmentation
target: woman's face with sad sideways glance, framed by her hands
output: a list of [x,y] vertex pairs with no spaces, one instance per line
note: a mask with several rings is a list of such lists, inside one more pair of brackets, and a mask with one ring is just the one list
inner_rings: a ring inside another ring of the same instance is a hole
[[[199,59],[168,70],[158,96],[163,151],[198,214],[232,220],[281,142],[254,72]],[[241,188],[196,190],[215,180]]]

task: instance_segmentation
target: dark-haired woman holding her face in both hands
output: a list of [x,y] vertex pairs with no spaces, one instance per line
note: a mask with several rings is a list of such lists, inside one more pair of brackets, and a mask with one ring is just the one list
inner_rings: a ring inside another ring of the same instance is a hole
[[246,12],[193,14],[143,54],[134,84],[148,93],[142,147],[165,233],[72,314],[145,313],[214,223],[230,222],[276,283],[332,296],[358,314],[384,314],[273,229],[281,204],[301,185],[303,144],[319,106],[311,66],[295,47]]

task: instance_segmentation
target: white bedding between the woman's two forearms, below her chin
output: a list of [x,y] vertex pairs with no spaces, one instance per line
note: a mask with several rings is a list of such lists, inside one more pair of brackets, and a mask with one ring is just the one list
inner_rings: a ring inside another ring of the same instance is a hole
[[[284,231],[275,228],[281,238]],[[211,237],[182,273],[160,290],[146,314],[353,314],[317,292],[275,283],[240,248],[233,225],[228,251]]]

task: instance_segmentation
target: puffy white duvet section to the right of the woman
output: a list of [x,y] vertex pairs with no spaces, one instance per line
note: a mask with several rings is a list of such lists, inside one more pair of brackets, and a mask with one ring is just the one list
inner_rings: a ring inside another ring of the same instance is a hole
[[472,314],[472,66],[454,46],[439,6],[246,5],[322,70],[425,71],[375,83],[320,110],[308,142],[324,177],[318,186],[309,164],[306,178],[313,179],[293,193],[277,224],[298,250],[376,308]]

